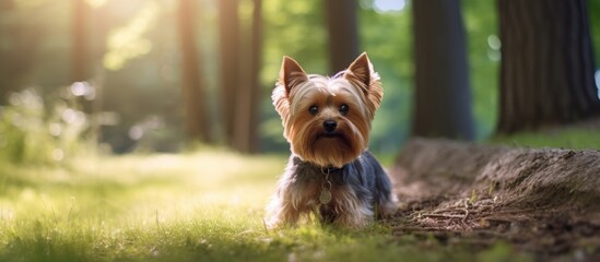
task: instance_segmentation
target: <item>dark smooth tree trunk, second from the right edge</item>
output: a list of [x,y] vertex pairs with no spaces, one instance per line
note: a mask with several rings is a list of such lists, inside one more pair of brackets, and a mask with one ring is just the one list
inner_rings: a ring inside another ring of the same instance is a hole
[[412,134],[473,139],[459,0],[413,1],[415,105]]

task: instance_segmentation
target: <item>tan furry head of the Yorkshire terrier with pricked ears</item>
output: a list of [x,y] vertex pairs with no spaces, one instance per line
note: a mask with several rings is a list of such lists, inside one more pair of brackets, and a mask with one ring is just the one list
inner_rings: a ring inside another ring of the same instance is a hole
[[[280,114],[292,152],[319,166],[341,167],[367,146],[370,121],[383,98],[379,75],[366,53],[341,78],[308,75],[292,58],[284,57],[272,99]],[[317,114],[310,114],[310,107]],[[348,112],[342,112],[348,106]],[[338,124],[333,136],[323,136],[326,120]]]

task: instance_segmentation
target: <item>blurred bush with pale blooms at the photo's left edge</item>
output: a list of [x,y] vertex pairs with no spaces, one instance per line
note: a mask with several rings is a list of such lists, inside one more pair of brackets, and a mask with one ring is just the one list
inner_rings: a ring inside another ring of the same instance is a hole
[[31,88],[11,94],[0,108],[0,159],[49,164],[78,153],[90,122],[78,97],[67,94],[47,105]]

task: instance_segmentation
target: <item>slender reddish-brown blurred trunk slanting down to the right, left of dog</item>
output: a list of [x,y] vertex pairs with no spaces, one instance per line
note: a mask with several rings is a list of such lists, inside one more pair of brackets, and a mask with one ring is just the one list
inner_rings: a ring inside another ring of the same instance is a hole
[[211,143],[205,85],[202,83],[200,52],[196,50],[193,0],[179,0],[178,29],[181,50],[181,86],[185,99],[186,132],[190,139]]

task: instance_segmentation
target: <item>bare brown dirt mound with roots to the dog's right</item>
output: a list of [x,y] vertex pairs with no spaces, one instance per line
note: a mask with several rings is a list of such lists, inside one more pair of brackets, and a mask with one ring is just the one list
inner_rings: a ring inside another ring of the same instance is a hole
[[398,235],[600,261],[600,151],[412,140],[390,175]]

